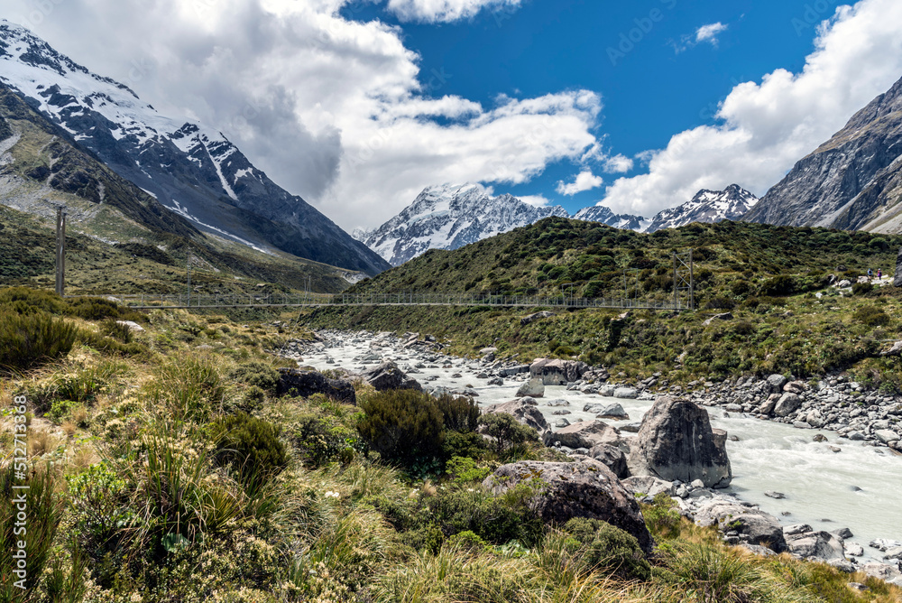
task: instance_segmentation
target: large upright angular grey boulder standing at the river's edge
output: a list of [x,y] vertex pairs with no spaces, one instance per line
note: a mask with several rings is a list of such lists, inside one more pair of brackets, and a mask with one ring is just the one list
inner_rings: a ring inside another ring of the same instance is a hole
[[688,400],[658,398],[630,444],[630,473],[705,487],[727,487],[732,480],[726,431],[711,429],[708,413]]

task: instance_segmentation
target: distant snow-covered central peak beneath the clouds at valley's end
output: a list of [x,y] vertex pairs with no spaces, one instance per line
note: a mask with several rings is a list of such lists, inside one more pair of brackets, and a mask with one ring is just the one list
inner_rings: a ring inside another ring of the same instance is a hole
[[569,218],[560,206],[537,208],[507,194],[492,197],[479,184],[445,184],[428,187],[381,227],[355,230],[354,236],[397,266],[428,249],[457,249],[549,216]]

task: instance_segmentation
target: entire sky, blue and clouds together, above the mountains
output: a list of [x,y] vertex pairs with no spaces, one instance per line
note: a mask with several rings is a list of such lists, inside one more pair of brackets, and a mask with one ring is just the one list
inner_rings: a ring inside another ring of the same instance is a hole
[[448,182],[647,218],[703,188],[762,195],[902,77],[898,0],[5,0],[4,16],[218,128],[349,231]]

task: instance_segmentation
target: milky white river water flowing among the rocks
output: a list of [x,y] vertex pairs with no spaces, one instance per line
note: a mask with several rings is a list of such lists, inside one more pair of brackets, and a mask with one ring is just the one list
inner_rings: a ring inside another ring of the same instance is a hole
[[[304,357],[300,364],[318,369],[342,367],[361,370],[363,366],[354,358],[369,353],[369,341],[362,340],[360,344],[347,344]],[[391,358],[399,365],[412,366],[421,361],[419,357],[403,351],[381,349],[375,350],[375,353]],[[332,358],[335,364],[327,364],[327,358]],[[411,376],[423,385],[451,388],[473,385],[481,406],[507,402],[516,397],[522,382],[506,379],[505,385],[490,386],[486,379],[477,379],[476,373],[468,370],[468,364],[465,360],[455,360],[450,368],[422,368],[421,373]],[[455,373],[460,373],[462,377],[452,379]],[[438,378],[428,381],[429,376]],[[569,422],[594,419],[593,413],[583,412],[584,404],[615,402],[630,413],[629,422],[639,422],[652,404],[646,400],[620,400],[568,392],[564,386],[548,386],[545,396],[538,399],[538,408],[552,425],[560,419],[552,412],[561,408],[552,408],[547,404],[557,398],[570,403],[565,407],[572,412],[566,415]],[[741,499],[760,506],[784,524],[811,524],[815,529],[828,532],[848,527],[854,534],[850,541],[860,543],[869,556],[879,556],[879,552],[868,547],[872,539],[902,541],[902,457],[886,448],[842,440],[833,431],[798,430],[783,423],[742,416],[741,413],[726,416],[728,413],[721,408],[709,407],[707,410],[713,427],[739,438],[739,441],[727,441],[733,480],[726,492],[734,492]],[[609,422],[617,425],[617,422]],[[813,441],[816,433],[823,433],[828,441]],[[629,437],[631,434],[623,435]],[[833,452],[831,446],[838,446],[842,451]],[[764,492],[769,490],[782,492],[787,497],[774,499],[764,496]]]

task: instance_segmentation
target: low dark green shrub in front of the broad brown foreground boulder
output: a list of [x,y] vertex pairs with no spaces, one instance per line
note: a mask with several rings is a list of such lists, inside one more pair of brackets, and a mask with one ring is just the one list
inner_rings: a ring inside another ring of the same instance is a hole
[[610,572],[625,580],[649,580],[651,565],[639,541],[619,527],[598,519],[571,519],[564,525],[579,543],[579,559],[587,570]]

